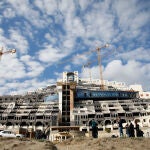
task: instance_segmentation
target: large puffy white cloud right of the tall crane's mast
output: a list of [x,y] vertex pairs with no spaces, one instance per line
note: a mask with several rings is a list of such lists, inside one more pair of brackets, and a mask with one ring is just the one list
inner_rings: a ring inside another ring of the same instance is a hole
[[104,69],[104,79],[123,81],[128,84],[139,83],[145,89],[149,88],[150,64],[128,61],[123,64],[120,60],[110,62]]

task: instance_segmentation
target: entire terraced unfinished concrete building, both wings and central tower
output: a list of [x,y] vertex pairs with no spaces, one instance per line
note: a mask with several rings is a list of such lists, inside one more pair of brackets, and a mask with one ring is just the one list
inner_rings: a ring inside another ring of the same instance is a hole
[[[99,130],[117,129],[118,116],[126,123],[138,120],[141,127],[150,127],[150,99],[125,83],[79,79],[78,72],[64,72],[57,85],[47,86],[24,95],[0,96],[0,128],[44,130],[48,126],[67,126],[90,130],[95,119]],[[54,97],[55,101],[52,101]]]

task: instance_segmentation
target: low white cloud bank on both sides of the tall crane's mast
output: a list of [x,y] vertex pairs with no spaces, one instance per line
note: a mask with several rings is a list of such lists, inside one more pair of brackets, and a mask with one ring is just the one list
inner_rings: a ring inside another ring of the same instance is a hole
[[[125,82],[126,84],[142,84],[143,89],[149,89],[150,81],[150,63],[144,64],[138,61],[128,61],[123,64],[121,60],[114,60],[107,64],[103,70],[103,79],[109,81]],[[98,66],[85,68],[81,72],[82,78],[100,79]]]

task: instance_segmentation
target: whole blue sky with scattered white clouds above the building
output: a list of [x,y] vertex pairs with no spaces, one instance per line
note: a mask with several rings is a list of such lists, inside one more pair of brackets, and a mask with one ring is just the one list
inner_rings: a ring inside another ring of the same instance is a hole
[[16,49],[1,57],[0,95],[55,84],[63,71],[99,79],[97,47],[104,80],[150,91],[150,1],[1,0],[0,47]]

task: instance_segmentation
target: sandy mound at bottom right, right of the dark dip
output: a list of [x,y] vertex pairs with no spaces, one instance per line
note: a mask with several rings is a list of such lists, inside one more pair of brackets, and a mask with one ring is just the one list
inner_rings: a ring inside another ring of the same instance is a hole
[[57,144],[60,150],[150,150],[150,138],[76,138]]

